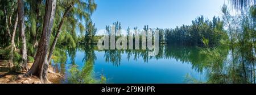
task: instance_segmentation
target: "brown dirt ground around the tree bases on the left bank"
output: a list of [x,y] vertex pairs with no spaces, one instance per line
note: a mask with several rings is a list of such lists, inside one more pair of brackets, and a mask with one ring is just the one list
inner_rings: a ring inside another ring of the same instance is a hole
[[[28,68],[31,68],[33,63],[28,63]],[[53,68],[49,66],[49,71],[53,71]],[[36,76],[19,77],[26,72],[9,72],[9,68],[6,66],[6,61],[0,60],[0,84],[40,84],[40,80]],[[62,75],[59,73],[49,73],[48,80],[56,84],[62,79]]]

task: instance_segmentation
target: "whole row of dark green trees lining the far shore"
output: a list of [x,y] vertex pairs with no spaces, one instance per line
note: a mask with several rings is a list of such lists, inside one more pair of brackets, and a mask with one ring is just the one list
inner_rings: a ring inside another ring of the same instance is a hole
[[[121,30],[121,23],[114,22],[115,34]],[[133,28],[139,30],[138,27]],[[159,30],[160,44],[176,44],[181,46],[207,46],[214,47],[220,44],[221,40],[228,40],[228,34],[224,31],[224,22],[220,18],[214,16],[212,20],[205,19],[203,15],[192,21],[192,25],[184,25],[176,28],[155,28]],[[127,28],[127,36],[129,36],[130,27]],[[144,31],[152,30],[148,25],[144,26]],[[111,26],[106,26],[106,35],[110,36]],[[125,36],[125,35],[122,35]],[[133,35],[134,36],[134,35]],[[101,36],[93,36],[93,42],[97,43],[96,39]],[[116,37],[118,39],[119,37]],[[128,38],[127,38],[128,39]],[[140,32],[141,40],[141,32]],[[88,42],[85,42],[88,43]]]

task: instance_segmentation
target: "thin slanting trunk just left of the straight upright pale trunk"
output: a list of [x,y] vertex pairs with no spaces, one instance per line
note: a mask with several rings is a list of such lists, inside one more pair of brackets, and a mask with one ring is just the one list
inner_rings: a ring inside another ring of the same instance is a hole
[[13,68],[13,51],[14,51],[14,48],[15,48],[15,33],[16,33],[16,28],[17,28],[17,25],[18,25],[18,14],[16,15],[16,19],[15,19],[15,22],[14,22],[14,27],[13,27],[13,36],[11,36],[11,56],[10,56],[10,63],[9,63],[9,67],[10,68]]

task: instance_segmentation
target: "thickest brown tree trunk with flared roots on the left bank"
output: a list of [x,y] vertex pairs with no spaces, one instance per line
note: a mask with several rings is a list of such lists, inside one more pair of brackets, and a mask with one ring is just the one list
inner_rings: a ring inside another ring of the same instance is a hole
[[[56,0],[46,1],[46,12],[44,14],[44,23],[41,39],[38,46],[38,51],[36,52],[35,61],[31,69],[26,73],[26,75],[35,75],[43,83],[48,83],[47,80],[47,69],[44,67],[47,64],[47,51],[49,46],[49,40],[51,36],[51,30],[53,26],[53,19],[55,16]],[[46,70],[45,70],[46,69]],[[46,71],[46,72],[45,72]]]

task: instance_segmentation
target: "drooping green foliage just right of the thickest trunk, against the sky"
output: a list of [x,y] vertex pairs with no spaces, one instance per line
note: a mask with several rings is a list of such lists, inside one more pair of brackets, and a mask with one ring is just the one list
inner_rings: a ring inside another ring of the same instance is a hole
[[[67,12],[69,6],[74,5],[69,11],[67,18],[62,26],[64,35],[60,35],[60,40],[58,40],[59,46],[68,45],[68,48],[76,47],[76,42],[87,43],[88,40],[92,39],[95,35],[97,29],[95,24],[93,24],[90,19],[90,15],[96,10],[96,3],[93,0],[72,0],[72,1],[60,1],[58,2],[56,11],[56,21],[55,27],[59,27],[61,18],[63,14]],[[84,26],[85,23],[85,26]],[[77,31],[79,35],[77,38]],[[84,35],[85,32],[85,36]],[[70,43],[70,44],[69,44]]]

